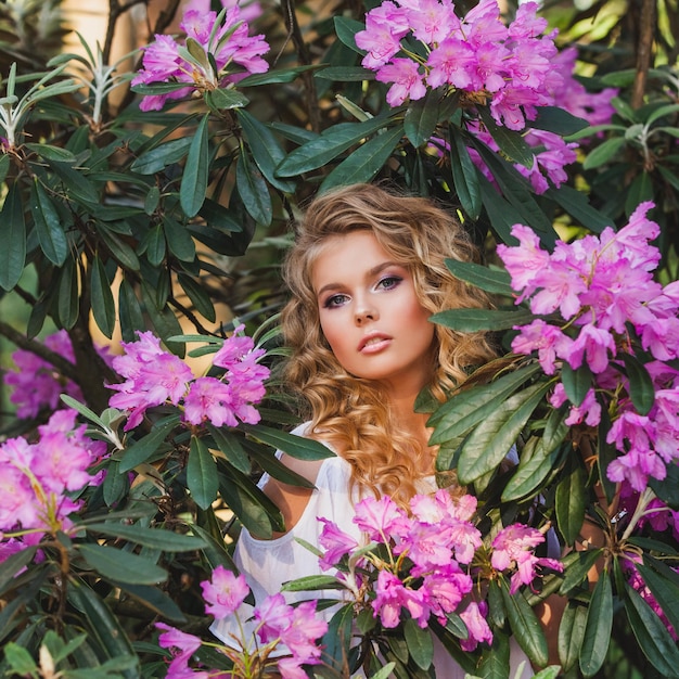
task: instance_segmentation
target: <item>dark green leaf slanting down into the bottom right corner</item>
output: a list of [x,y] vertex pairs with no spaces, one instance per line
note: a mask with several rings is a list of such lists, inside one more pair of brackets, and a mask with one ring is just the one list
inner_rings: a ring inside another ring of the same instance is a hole
[[[675,602],[675,606],[677,603]],[[639,648],[663,677],[677,677],[679,649],[658,615],[632,587],[625,586],[625,612]]]

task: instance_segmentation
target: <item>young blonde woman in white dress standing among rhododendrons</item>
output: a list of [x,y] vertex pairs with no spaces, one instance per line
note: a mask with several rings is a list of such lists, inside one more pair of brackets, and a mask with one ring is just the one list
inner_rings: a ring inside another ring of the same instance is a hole
[[[426,388],[444,401],[472,368],[495,356],[485,334],[428,320],[444,309],[488,305],[484,293],[451,276],[446,258],[474,260],[475,248],[462,227],[425,198],[353,185],[307,209],[284,269],[291,292],[282,319],[292,349],[286,377],[306,409],[296,433],[323,441],[337,457],[308,462],[281,456],[313,490],[262,479],[286,533],[271,540],[241,535],[236,564],[256,600],[321,572],[297,541],[319,545],[317,517],[358,540],[351,518],[361,497],[388,494],[407,507],[417,492],[436,490],[437,450],[428,445],[427,415],[414,412],[415,398]],[[453,485],[451,492],[463,489]],[[219,625],[213,631],[222,639],[229,632]],[[521,661],[531,676],[514,645],[511,677]],[[443,646],[434,666],[445,679],[464,676]]]

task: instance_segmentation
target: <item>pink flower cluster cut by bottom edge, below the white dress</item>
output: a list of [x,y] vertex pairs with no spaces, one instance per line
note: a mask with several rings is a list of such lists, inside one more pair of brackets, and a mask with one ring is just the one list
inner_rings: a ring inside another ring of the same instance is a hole
[[[202,645],[201,639],[157,623],[156,627],[164,630],[158,638],[161,646],[172,652],[166,675],[168,679],[188,676],[259,677],[267,667],[277,667],[283,679],[298,679],[307,677],[303,668],[305,665],[318,665],[321,662],[321,648],[316,642],[328,631],[328,624],[316,617],[315,601],[305,601],[293,607],[285,603],[281,593],[267,597],[254,610],[254,630],[247,636],[242,625],[245,620],[239,617],[239,608],[249,593],[244,576],[236,576],[223,566],[217,566],[212,579],[201,582],[201,587],[207,602],[207,614],[218,620],[229,616],[239,619],[234,629],[238,627],[241,635],[231,635],[231,645],[217,646],[218,652],[233,661],[233,669],[227,672],[190,667],[191,656]],[[215,644],[210,642],[209,645]],[[279,656],[280,652],[284,655]]]

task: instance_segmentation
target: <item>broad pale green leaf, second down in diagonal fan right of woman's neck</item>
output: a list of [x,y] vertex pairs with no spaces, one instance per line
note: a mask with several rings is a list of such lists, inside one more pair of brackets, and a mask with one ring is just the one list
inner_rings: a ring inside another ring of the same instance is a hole
[[537,383],[514,394],[476,426],[460,451],[461,484],[497,469],[549,388],[549,383]]

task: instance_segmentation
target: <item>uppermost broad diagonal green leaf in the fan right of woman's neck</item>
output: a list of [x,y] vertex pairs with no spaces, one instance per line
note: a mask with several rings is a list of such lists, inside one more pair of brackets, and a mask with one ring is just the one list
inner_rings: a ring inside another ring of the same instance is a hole
[[530,363],[489,384],[456,394],[428,419],[427,426],[435,427],[430,444],[443,444],[466,434],[471,427],[495,412],[539,369],[538,363]]

